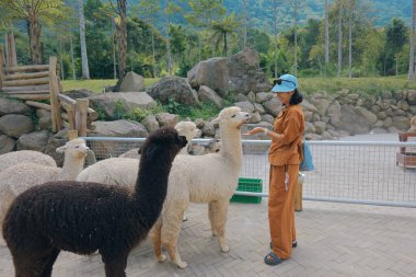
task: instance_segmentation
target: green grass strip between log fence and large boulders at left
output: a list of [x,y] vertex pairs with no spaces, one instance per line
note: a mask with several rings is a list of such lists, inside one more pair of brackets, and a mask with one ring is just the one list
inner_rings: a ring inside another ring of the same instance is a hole
[[[153,83],[158,82],[159,78],[146,78],[145,86],[148,88]],[[86,89],[95,93],[101,93],[107,85],[115,85],[116,80],[105,79],[105,80],[65,80],[62,81],[63,91],[71,91],[77,89]]]

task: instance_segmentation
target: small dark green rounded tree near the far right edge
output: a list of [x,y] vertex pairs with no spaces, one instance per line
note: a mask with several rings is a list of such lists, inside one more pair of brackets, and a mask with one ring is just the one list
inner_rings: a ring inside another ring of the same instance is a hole
[[402,20],[393,19],[385,32],[386,54],[395,59],[395,73],[398,74],[398,54],[407,41],[407,27]]

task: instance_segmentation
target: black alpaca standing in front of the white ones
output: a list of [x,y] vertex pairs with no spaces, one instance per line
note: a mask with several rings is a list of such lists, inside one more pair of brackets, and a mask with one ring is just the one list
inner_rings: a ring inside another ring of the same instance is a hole
[[132,196],[116,186],[80,182],[50,182],[21,194],[3,223],[15,276],[50,276],[61,250],[99,250],[107,277],[126,276],[127,256],[158,219],[172,161],[186,143],[173,128],[150,135]]

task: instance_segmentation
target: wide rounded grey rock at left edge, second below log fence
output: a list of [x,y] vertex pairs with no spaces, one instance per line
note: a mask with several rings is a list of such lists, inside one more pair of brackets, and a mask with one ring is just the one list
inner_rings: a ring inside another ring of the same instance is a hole
[[0,117],[0,131],[9,137],[19,138],[35,128],[31,117],[25,115],[4,115]]

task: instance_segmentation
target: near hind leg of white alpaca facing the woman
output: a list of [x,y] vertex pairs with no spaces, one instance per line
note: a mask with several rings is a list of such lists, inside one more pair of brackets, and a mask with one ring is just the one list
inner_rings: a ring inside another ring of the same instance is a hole
[[177,251],[177,239],[180,236],[182,219],[185,209],[166,209],[163,215],[162,244],[166,247],[171,261],[180,268],[185,268],[187,264],[181,259]]

